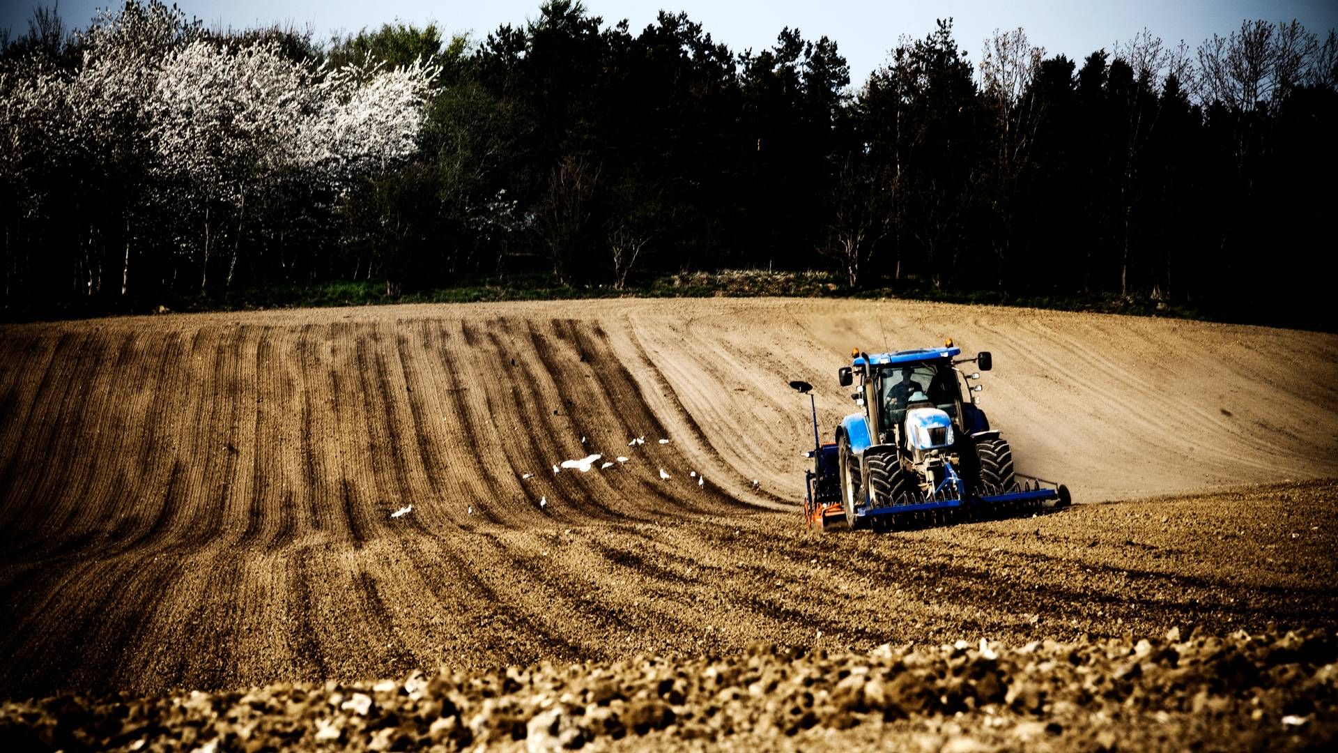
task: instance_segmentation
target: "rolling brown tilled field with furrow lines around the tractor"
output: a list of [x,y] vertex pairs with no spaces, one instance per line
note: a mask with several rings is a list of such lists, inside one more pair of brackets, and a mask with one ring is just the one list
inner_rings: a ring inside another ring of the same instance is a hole
[[[826,433],[851,346],[943,336],[994,352],[1018,469],[1084,504],[805,535],[785,382]],[[1335,360],[1334,335],[900,301],[0,327],[0,697],[1331,628],[1338,489],[1303,481],[1338,477]]]

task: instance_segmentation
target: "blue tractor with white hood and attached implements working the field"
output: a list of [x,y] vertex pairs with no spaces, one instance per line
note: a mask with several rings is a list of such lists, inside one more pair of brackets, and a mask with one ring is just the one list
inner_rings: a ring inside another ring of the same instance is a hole
[[[804,517],[809,527],[886,529],[981,516],[1066,506],[1062,484],[1024,477],[1013,452],[977,406],[987,351],[958,358],[945,347],[868,355],[858,348],[840,368],[842,387],[858,385],[860,407],[842,419],[835,441],[818,437],[814,410],[814,469],[805,473]],[[978,371],[958,367],[974,363]],[[809,393],[807,382],[791,382]]]

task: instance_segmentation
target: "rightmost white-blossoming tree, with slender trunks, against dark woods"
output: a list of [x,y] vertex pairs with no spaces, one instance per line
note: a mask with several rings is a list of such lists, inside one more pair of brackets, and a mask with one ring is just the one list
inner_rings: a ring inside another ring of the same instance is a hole
[[169,55],[150,107],[153,133],[161,169],[183,178],[203,218],[201,288],[215,206],[234,217],[230,285],[248,197],[276,188],[290,167],[347,184],[408,157],[434,75],[427,62],[313,71],[273,43],[231,50],[195,40]]

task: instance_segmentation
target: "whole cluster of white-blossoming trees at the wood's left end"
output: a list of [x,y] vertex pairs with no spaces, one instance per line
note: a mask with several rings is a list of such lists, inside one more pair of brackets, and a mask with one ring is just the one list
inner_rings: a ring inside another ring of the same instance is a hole
[[[265,35],[206,33],[158,1],[103,11],[75,40],[72,68],[32,56],[0,70],[0,196],[20,228],[25,214],[59,216],[54,197],[86,218],[74,263],[90,295],[118,261],[127,292],[138,241],[171,244],[201,288],[226,243],[230,285],[244,233],[282,234],[260,226],[282,221],[257,210],[272,194],[330,194],[415,151],[436,74],[429,60],[318,68]],[[136,213],[158,221],[140,233]],[[15,264],[7,249],[7,280]]]

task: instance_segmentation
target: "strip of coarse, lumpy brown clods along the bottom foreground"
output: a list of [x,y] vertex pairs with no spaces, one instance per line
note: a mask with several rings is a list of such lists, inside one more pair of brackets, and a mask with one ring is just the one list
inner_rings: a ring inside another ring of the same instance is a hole
[[1331,749],[1333,631],[534,665],[7,702],[9,750]]

